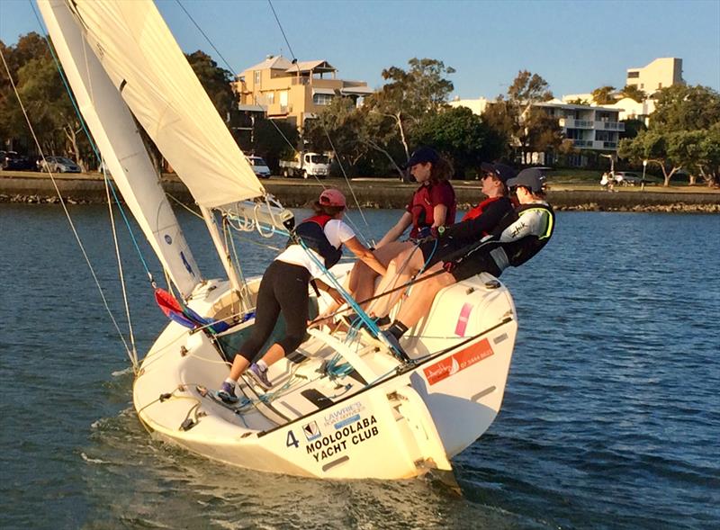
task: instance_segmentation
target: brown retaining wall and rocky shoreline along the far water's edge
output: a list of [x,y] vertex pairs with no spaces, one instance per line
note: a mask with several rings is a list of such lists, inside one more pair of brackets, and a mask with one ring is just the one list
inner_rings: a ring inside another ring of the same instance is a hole
[[[55,175],[58,189],[67,204],[105,203],[103,178],[98,174]],[[308,206],[320,194],[323,187],[338,187],[347,193],[351,207],[353,198],[363,208],[404,208],[416,184],[401,184],[396,179],[358,178],[352,181],[352,192],[344,179],[289,180],[273,177],[262,180],[268,193],[272,193],[285,206],[298,208]],[[476,181],[455,181],[458,210],[467,210],[481,199],[480,184]],[[174,175],[163,176],[166,193],[179,202],[193,204],[193,197]],[[668,190],[648,186],[620,188],[609,193],[593,186],[553,184],[547,193],[548,202],[557,211],[662,211],[683,213],[720,213],[720,191],[702,188],[678,188]],[[59,203],[55,186],[48,175],[29,172],[0,173],[0,202],[27,204]]]

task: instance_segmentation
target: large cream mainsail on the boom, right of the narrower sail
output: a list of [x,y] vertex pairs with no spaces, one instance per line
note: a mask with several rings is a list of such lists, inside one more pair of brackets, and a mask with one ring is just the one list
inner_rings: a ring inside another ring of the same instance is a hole
[[73,0],[122,99],[177,175],[207,208],[265,189],[150,0]]

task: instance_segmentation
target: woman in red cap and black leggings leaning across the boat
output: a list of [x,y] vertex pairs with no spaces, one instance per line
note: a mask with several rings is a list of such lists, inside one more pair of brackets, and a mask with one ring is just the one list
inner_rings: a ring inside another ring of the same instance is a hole
[[[293,353],[307,332],[309,292],[311,281],[336,300],[339,293],[320,281],[326,270],[338,263],[345,245],[377,274],[386,270],[373,253],[356,238],[355,232],[342,221],[345,196],[335,189],[320,193],[312,205],[315,215],[303,220],[294,230],[294,238],[284,251],[267,267],[257,292],[257,309],[252,334],[239,347],[232,362],[229,377],[222,383],[217,396],[226,403],[235,403],[235,385],[249,367],[249,373],[266,389],[272,387],[267,367]],[[275,328],[283,313],[284,337],[270,346],[257,363],[252,364],[260,348]]]

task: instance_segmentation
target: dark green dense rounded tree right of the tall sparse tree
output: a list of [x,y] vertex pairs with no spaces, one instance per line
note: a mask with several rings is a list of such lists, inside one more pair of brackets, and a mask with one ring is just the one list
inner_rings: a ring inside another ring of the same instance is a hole
[[444,152],[453,160],[458,176],[464,176],[468,166],[501,157],[505,143],[504,137],[466,107],[428,115],[415,129],[413,139]]

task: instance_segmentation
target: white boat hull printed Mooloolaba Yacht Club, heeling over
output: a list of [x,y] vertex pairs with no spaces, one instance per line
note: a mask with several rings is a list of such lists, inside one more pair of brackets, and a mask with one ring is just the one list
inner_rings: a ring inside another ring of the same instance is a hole
[[[209,283],[190,305],[221,315],[228,289]],[[271,367],[267,403],[241,380],[254,403],[237,413],[204,392],[228,374],[211,338],[171,323],[143,361],[133,399],[157,436],[220,462],[323,479],[409,478],[452,469],[450,458],[490,427],[516,331],[509,292],[482,274],[440,292],[427,319],[410,330],[416,337],[403,346],[418,360],[412,369],[399,373],[398,361],[373,340],[313,330],[299,350],[302,363]],[[321,372],[338,351],[355,373]]]

